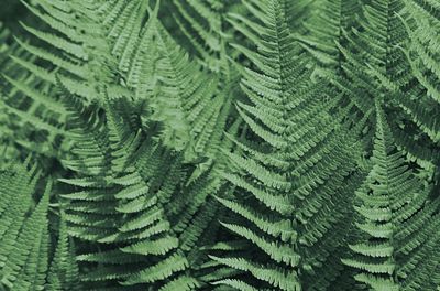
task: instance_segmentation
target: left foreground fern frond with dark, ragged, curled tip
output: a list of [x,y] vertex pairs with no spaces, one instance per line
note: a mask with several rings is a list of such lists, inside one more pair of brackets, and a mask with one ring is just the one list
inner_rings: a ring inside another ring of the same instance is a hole
[[[116,107],[116,103],[120,105]],[[76,129],[78,133],[82,131],[76,142],[77,158],[67,164],[77,176],[63,180],[77,188],[64,195],[69,201],[66,206],[69,233],[103,248],[78,258],[98,263],[84,278],[90,285],[103,288],[111,281],[127,285],[154,283],[182,268],[163,269],[161,260],[157,261],[160,257],[163,261],[175,259],[182,266],[187,265],[176,254],[178,240],[163,207],[179,184],[178,158],[152,143],[153,137],[146,139],[140,128],[131,131],[122,123],[123,111],[110,111],[127,109],[121,96],[109,104],[112,106],[107,107],[106,122],[98,125],[102,132],[99,138],[85,134],[87,127]],[[89,126],[94,126],[94,120]],[[168,175],[165,169],[170,171]],[[157,274],[147,277],[144,270]]]

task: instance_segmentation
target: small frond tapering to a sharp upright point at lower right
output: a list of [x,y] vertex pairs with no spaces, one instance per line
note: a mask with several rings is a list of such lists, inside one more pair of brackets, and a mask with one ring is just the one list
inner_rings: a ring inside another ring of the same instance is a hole
[[[365,236],[350,246],[356,257],[343,262],[358,268],[355,279],[373,290],[430,290],[435,282],[427,279],[436,271],[438,258],[425,256],[438,244],[433,230],[438,202],[428,202],[428,191],[404,164],[384,112],[376,107],[374,165],[355,206],[362,217],[356,225]],[[424,229],[418,228],[421,224]]]

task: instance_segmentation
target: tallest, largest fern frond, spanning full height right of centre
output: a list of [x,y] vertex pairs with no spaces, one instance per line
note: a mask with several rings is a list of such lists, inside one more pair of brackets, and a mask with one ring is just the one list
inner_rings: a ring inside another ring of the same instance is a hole
[[[255,23],[231,15],[237,30],[257,47],[234,45],[253,64],[243,71],[241,83],[251,104],[239,101],[237,109],[249,127],[246,136],[260,142],[240,140],[238,151],[226,153],[234,171],[223,177],[238,187],[237,202],[220,200],[244,218],[223,226],[246,239],[250,250],[213,258],[252,274],[255,281],[245,274],[244,282],[220,281],[242,290],[328,288],[342,270],[332,256],[342,241],[334,233],[345,227],[348,195],[359,180],[350,177],[349,152],[355,153],[351,137],[343,142],[344,127],[336,126],[349,109],[334,112],[334,118],[330,111],[339,98],[329,101],[324,84],[310,83],[314,68],[293,41],[286,3],[245,1],[260,20]],[[344,195],[339,194],[341,188]]]

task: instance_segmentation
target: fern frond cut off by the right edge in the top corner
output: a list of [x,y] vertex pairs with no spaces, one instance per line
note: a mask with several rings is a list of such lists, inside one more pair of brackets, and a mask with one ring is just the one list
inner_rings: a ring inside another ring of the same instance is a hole
[[[436,146],[439,143],[439,88],[440,78],[439,57],[437,55],[440,25],[440,7],[433,1],[404,1],[405,11],[409,17],[405,20],[409,42],[405,53],[410,64],[411,73],[417,78],[420,89],[416,95],[402,98],[399,106],[422,132],[426,147],[411,150],[411,144],[406,142],[410,152],[419,153],[421,160],[438,164],[439,152]],[[403,134],[399,134],[403,136]],[[433,157],[433,158],[432,158]],[[433,161],[432,161],[433,160]]]

